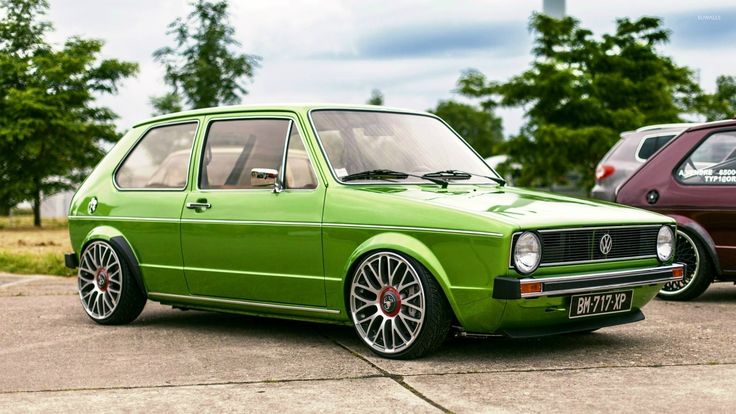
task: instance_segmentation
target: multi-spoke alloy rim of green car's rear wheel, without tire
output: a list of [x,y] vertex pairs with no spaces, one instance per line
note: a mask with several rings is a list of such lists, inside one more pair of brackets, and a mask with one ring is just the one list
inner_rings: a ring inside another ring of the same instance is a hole
[[97,320],[109,317],[123,290],[123,269],[112,246],[101,241],[87,246],[79,261],[77,281],[87,314]]

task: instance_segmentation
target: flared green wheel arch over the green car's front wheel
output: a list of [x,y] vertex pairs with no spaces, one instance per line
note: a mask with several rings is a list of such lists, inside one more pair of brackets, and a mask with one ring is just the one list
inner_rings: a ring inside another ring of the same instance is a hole
[[350,304],[347,301],[347,294],[350,290],[350,283],[352,281],[352,275],[355,268],[365,257],[378,251],[402,253],[418,261],[422,266],[429,270],[434,279],[440,285],[442,293],[444,293],[447,302],[450,304],[455,318],[458,318],[460,313],[458,312],[455,300],[452,296],[451,285],[447,272],[439,259],[437,259],[437,256],[435,256],[432,250],[420,240],[406,234],[393,232],[377,234],[367,239],[353,251],[347,260],[345,269],[343,270],[343,274],[346,275],[343,286],[343,296],[347,312],[349,312],[350,309]]

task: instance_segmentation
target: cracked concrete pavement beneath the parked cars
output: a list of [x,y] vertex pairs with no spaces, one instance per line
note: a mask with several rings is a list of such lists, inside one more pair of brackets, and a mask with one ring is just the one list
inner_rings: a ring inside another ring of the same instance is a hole
[[736,287],[589,335],[374,357],[351,328],[181,312],[125,327],[72,279],[0,275],[0,412],[734,412]]

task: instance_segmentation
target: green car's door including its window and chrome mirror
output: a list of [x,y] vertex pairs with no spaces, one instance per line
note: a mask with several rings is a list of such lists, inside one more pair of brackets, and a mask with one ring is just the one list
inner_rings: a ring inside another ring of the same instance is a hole
[[296,115],[207,119],[181,216],[191,294],[325,305],[325,186],[303,137]]

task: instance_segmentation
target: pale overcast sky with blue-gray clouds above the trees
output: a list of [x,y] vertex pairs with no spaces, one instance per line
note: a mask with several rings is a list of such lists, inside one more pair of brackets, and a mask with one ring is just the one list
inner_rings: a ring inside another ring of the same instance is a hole
[[[135,79],[102,103],[124,130],[150,116],[151,95],[166,91],[151,53],[172,40],[166,26],[186,0],[51,0],[51,40],[72,35],[106,42],[104,55],[140,64]],[[231,23],[243,50],[263,58],[243,103],[364,103],[373,88],[386,104],[425,110],[476,68],[505,80],[531,60],[529,16],[542,0],[232,0]],[[727,0],[568,0],[567,14],[600,34],[617,17],[660,16],[672,29],[663,52],[698,70],[706,90],[719,74],[736,75],[736,4]],[[501,110],[506,133],[521,110]]]

